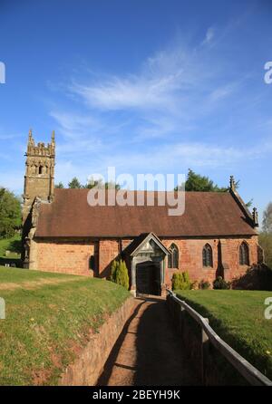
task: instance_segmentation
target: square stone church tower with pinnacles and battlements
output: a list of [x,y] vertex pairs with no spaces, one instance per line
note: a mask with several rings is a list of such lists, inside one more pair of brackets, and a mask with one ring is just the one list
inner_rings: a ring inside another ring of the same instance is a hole
[[53,200],[54,132],[52,133],[51,143],[47,145],[38,143],[35,145],[32,130],[30,130],[25,156],[23,225],[33,207],[35,197],[44,202]]

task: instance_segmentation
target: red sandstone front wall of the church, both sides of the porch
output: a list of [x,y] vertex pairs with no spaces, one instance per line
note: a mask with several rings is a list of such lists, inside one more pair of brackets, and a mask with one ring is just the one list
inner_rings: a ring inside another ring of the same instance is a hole
[[[248,238],[225,238],[221,239],[222,262],[228,265],[225,272],[226,280],[245,274],[246,265],[238,263],[238,247],[246,241],[249,246],[250,265],[257,263],[257,236]],[[131,240],[122,240],[122,249],[129,245]],[[179,271],[188,271],[192,280],[209,281],[211,284],[217,276],[219,267],[219,239],[187,239],[187,240],[162,240],[163,244],[170,247],[175,243],[179,247],[180,265]],[[213,267],[202,266],[202,248],[209,243],[213,251]],[[32,248],[32,269],[41,271],[60,272],[65,274],[92,275],[89,270],[89,258],[94,254],[94,245],[90,240],[81,241],[39,241]],[[101,277],[108,277],[111,271],[112,260],[119,255],[118,240],[100,240],[99,242],[99,268]],[[171,277],[177,269],[166,269],[165,283],[171,285]]]

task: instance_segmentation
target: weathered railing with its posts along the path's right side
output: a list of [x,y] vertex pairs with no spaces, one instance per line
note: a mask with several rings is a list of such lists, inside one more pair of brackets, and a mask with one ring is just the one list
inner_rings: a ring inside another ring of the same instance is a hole
[[182,317],[182,312],[186,311],[201,327],[201,376],[204,384],[206,384],[205,362],[209,354],[209,343],[211,343],[238,370],[238,373],[248,380],[249,384],[253,386],[272,386],[272,380],[267,379],[263,373],[252,366],[237,351],[234,351],[227,342],[219,337],[210,327],[209,319],[202,317],[188,303],[180,300],[172,291],[167,290],[167,292],[169,293],[168,299],[180,305],[180,316]]

